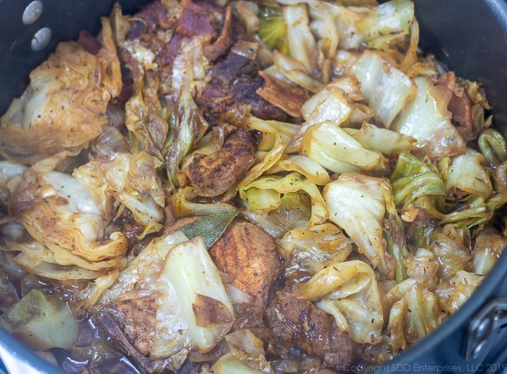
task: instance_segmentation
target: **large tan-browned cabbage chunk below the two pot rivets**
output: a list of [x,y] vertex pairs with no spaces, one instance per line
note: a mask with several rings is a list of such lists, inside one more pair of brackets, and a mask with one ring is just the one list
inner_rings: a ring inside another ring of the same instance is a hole
[[86,148],[107,123],[108,102],[119,94],[121,81],[111,82],[107,74],[117,69],[115,49],[93,55],[74,41],[58,44],[1,117],[2,155],[34,162]]

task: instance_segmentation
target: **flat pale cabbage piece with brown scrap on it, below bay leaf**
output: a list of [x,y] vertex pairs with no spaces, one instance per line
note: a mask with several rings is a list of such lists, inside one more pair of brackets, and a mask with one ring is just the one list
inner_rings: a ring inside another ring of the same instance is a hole
[[[160,298],[154,358],[188,349],[189,344],[209,352],[234,322],[234,309],[201,237],[170,250],[156,288]],[[175,342],[184,345],[175,347]]]

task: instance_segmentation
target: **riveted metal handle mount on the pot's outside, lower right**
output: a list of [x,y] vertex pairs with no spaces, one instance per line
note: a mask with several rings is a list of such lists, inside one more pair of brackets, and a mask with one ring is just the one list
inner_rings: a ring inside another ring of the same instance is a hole
[[463,339],[465,359],[484,359],[502,330],[507,330],[507,296],[492,299],[472,318]]

